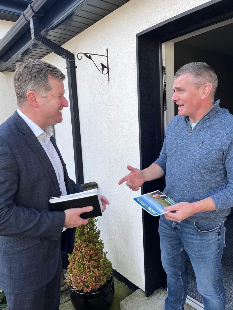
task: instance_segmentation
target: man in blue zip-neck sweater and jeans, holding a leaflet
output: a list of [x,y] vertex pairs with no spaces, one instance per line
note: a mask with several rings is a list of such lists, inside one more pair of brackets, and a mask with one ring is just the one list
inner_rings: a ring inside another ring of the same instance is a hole
[[[164,194],[177,202],[165,207],[159,234],[167,273],[165,310],[184,309],[188,257],[205,310],[224,310],[222,253],[224,222],[233,206],[233,115],[214,100],[217,76],[205,63],[180,68],[172,101],[178,115],[167,126],[159,158],[148,168],[127,166],[119,184],[133,191],[166,174]],[[175,213],[171,211],[176,211]]]

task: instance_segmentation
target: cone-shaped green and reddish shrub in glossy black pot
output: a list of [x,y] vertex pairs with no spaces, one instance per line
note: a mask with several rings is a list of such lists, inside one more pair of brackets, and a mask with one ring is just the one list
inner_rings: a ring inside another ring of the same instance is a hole
[[76,229],[75,247],[66,272],[75,310],[109,310],[114,297],[112,264],[103,252],[97,220]]

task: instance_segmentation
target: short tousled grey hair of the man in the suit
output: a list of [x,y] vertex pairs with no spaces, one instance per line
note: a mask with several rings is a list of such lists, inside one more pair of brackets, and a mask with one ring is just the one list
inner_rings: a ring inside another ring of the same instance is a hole
[[65,74],[57,67],[43,60],[26,60],[16,64],[14,73],[14,86],[18,106],[22,106],[27,100],[27,92],[34,91],[46,98],[47,92],[52,89],[48,75],[64,80]]

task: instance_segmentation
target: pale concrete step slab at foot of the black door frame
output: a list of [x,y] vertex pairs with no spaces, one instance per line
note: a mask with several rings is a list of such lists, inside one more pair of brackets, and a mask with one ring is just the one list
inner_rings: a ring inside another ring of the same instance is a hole
[[[166,297],[167,290],[162,288],[149,297],[146,297],[144,291],[139,289],[122,300],[120,308],[121,310],[163,310]],[[185,310],[194,310],[194,308],[185,303]]]

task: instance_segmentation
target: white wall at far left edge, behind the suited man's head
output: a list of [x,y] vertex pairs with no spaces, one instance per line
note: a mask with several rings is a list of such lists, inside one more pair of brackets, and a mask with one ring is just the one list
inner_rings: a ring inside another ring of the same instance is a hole
[[[14,23],[0,20],[0,39],[8,32]],[[0,72],[0,124],[10,117],[17,108],[12,72]]]

